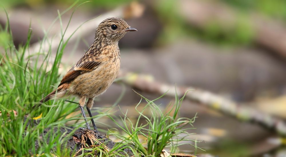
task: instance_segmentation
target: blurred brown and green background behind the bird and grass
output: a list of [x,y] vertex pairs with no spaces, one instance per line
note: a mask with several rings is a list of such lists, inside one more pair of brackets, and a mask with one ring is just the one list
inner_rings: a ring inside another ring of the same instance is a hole
[[[47,30],[48,37],[56,38],[61,33],[61,23],[53,21],[58,11],[63,12],[73,3],[72,0],[1,0],[9,15],[16,47],[26,42],[30,25],[32,46],[37,45]],[[63,27],[67,26],[72,11],[61,17]],[[75,31],[87,20],[106,16],[123,18],[138,29],[120,40],[123,71],[143,73],[171,86],[191,86],[210,92],[234,102],[237,109],[251,109],[245,111],[251,112],[249,115],[255,110],[256,114],[274,117],[279,122],[286,119],[285,0],[92,0],[77,8],[67,31]],[[1,9],[2,28],[6,22],[5,11]],[[63,74],[94,41],[98,24],[86,24],[65,49]],[[0,45],[6,44],[7,37],[7,33],[0,31]],[[122,110],[132,111],[140,100],[132,89],[149,99],[160,96],[113,84],[96,99],[96,107],[111,106],[124,91],[119,105]],[[164,108],[170,101],[174,97],[164,97],[158,104]],[[206,151],[198,149],[197,154],[286,156],[285,133],[277,131],[275,126],[255,123],[252,118],[242,120],[237,114],[229,116],[221,111],[220,107],[210,108],[200,101],[185,100],[182,104],[181,116],[192,118],[196,113],[198,116],[196,129],[192,130],[196,134],[189,138],[202,141],[197,146]],[[99,121],[108,123],[104,119]],[[98,127],[106,128],[100,124]],[[180,151],[193,154],[195,148],[182,146]]]

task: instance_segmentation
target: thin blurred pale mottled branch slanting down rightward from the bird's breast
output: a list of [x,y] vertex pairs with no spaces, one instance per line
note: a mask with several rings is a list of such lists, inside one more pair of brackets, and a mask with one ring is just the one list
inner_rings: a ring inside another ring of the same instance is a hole
[[160,82],[156,82],[150,75],[136,74],[132,72],[121,72],[118,77],[120,77],[122,82],[133,88],[160,95],[168,91],[166,96],[170,97],[173,97],[175,94],[182,97],[188,90],[192,90],[186,94],[186,98],[191,101],[198,102],[239,120],[257,123],[267,129],[274,130],[278,134],[286,135],[286,124],[283,120],[274,118],[273,116],[255,110],[254,108],[239,105],[206,90],[162,84]]

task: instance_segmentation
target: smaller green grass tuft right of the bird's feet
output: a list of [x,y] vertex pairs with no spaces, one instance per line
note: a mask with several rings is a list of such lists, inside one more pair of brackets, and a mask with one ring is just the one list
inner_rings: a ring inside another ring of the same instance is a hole
[[[127,117],[127,112],[124,114],[124,117],[120,117],[120,122],[111,115],[108,115],[108,117],[128,136],[126,137],[118,133],[114,134],[111,130],[109,135],[114,135],[117,138],[120,138],[122,140],[122,144],[131,145],[144,156],[160,156],[162,150],[166,147],[171,147],[171,151],[175,151],[176,147],[179,145],[198,142],[186,138],[190,135],[187,131],[193,129],[192,124],[194,123],[196,116],[189,119],[181,118],[179,114],[179,109],[185,95],[180,99],[176,95],[175,102],[169,111],[161,111],[159,108],[160,105],[154,103],[164,95],[154,100],[148,100],[144,96],[140,96],[141,100],[135,108],[136,112],[139,114],[135,124],[133,124],[132,120]],[[141,111],[139,111],[138,106],[141,105],[142,99],[144,99],[147,104]],[[149,109],[152,113],[151,117],[144,115],[146,109]],[[142,120],[146,123],[140,123]],[[146,144],[142,144],[144,142],[140,140],[140,136],[146,138]],[[120,145],[114,147],[114,149],[119,147]]]

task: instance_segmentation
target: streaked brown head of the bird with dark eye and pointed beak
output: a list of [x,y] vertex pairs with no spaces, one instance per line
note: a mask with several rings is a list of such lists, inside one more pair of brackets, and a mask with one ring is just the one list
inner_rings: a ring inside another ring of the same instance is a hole
[[111,17],[98,25],[96,35],[99,38],[117,42],[129,31],[137,31],[137,29],[130,27],[123,19]]

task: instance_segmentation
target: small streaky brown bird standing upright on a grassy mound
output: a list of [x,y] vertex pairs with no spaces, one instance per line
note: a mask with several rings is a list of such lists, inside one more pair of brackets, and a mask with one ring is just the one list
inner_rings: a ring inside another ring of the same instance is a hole
[[[96,29],[94,42],[88,51],[63,76],[57,89],[45,96],[32,109],[38,108],[50,99],[77,96],[80,99],[79,107],[82,116],[87,128],[90,129],[84,106],[86,106],[89,116],[92,117],[90,109],[94,105],[94,98],[103,94],[110,87],[119,72],[118,41],[130,31],[137,31],[137,29],[130,27],[123,19],[111,17],[102,21]],[[92,118],[91,122],[96,130]]]

